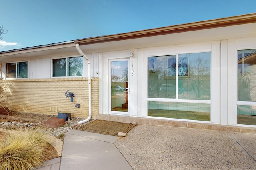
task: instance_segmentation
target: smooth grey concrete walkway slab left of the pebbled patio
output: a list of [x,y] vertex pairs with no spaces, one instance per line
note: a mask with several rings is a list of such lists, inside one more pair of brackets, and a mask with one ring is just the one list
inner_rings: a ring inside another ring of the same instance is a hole
[[114,145],[118,139],[80,130],[65,133],[60,170],[132,170]]

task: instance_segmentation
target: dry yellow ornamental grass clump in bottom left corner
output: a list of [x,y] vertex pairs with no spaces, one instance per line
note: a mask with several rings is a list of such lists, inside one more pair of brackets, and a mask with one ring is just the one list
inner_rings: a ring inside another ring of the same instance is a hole
[[42,165],[48,146],[42,133],[8,133],[0,139],[0,170],[30,170]]

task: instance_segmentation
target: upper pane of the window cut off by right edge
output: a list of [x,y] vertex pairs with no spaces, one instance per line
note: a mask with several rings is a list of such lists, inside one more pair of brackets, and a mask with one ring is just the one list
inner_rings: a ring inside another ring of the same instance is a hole
[[237,66],[238,101],[256,101],[256,49],[239,50]]

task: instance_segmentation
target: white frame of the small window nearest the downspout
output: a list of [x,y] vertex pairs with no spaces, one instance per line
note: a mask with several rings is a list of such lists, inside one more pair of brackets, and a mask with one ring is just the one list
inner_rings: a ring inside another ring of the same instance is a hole
[[[83,76],[68,76],[68,58],[73,58],[73,57],[82,57],[81,55],[74,55],[74,56],[63,56],[63,57],[52,57],[50,62],[51,62],[51,78],[76,78],[76,77],[85,77],[85,63],[86,61],[84,60],[84,57],[83,58]],[[52,65],[52,61],[54,59],[66,59],[66,76],[53,76],[53,65]]]

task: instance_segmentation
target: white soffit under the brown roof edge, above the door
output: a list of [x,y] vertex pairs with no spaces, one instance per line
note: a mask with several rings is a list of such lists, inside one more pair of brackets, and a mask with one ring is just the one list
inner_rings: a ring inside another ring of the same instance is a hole
[[218,41],[222,39],[234,39],[248,36],[256,36],[256,23],[143,37],[137,39],[110,41],[105,43],[95,43],[81,45],[80,48],[86,53],[92,53],[114,51],[118,49],[133,49],[163,45],[198,43],[204,41]]

